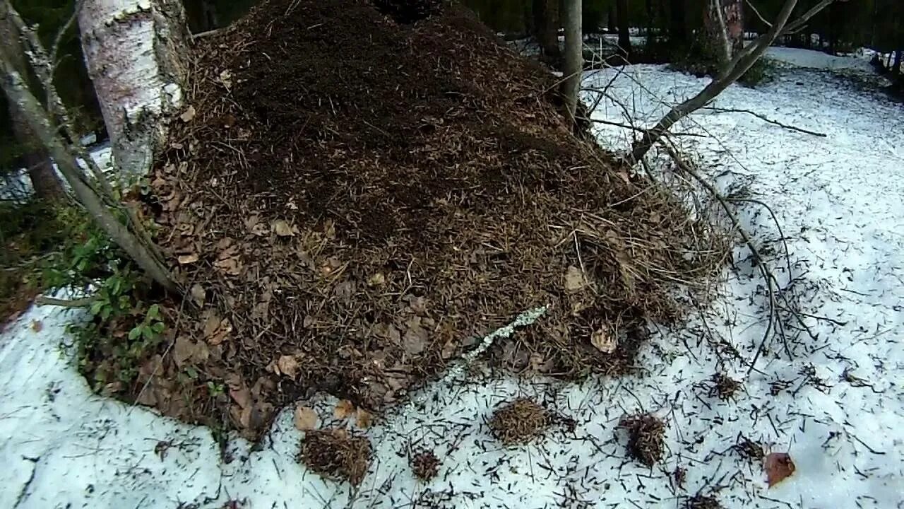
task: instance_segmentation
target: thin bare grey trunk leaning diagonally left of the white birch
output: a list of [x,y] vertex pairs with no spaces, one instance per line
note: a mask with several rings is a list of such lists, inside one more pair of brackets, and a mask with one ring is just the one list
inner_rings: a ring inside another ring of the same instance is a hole
[[136,235],[110,213],[107,206],[101,202],[97,192],[90,187],[75,156],[71,150],[66,148],[58,130],[51,124],[47,112],[43,110],[41,103],[35,99],[33,93],[28,90],[22,75],[9,62],[5,51],[0,51],[0,88],[5,91],[8,100],[16,105],[23,118],[28,121],[29,127],[37,139],[48,149],[63,177],[66,178],[75,196],[91,218],[156,283],[169,291],[178,292],[179,289],[165,266],[155,259],[155,256],[138,240]]

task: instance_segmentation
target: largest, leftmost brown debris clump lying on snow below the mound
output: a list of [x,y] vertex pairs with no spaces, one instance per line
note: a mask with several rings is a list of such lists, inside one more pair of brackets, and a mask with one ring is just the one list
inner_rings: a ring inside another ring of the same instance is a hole
[[367,437],[346,429],[308,431],[301,442],[298,461],[329,479],[361,484],[371,463],[372,447]]

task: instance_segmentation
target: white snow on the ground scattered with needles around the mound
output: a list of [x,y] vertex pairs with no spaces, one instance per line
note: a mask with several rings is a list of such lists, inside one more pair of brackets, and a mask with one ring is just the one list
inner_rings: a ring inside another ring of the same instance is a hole
[[[809,67],[835,65],[798,52],[778,53]],[[605,85],[614,75],[587,80]],[[609,89],[626,108],[604,101],[596,115],[627,123],[627,110],[649,122],[662,101],[703,84],[663,66],[632,66]],[[899,104],[854,86],[787,67],[762,88],[731,87],[715,104],[825,137],[711,110],[675,127],[701,135],[680,142],[720,187],[744,188],[775,211],[791,274],[771,265],[783,286],[793,282],[788,292],[814,333],[783,317],[790,359],[773,341],[748,376],[767,312],[749,252],[738,246],[720,298],[681,330],[655,333],[642,376],[493,379],[478,359],[366,430],[376,455],[353,490],[297,464],[301,433],[291,409],[258,447],[233,439],[226,463],[209,430],[92,395],[60,349],[71,312],[32,309],[0,335],[0,507],[679,507],[693,495],[725,507],[904,507],[904,116]],[[622,148],[631,134],[599,130]],[[767,210],[749,203],[739,215],[764,255],[782,252]],[[742,381],[734,399],[711,395],[716,371]],[[515,396],[538,399],[576,426],[502,447],[485,419]],[[334,403],[306,402],[322,424],[336,420]],[[664,461],[653,468],[626,457],[617,430],[623,414],[638,410],[667,426]],[[761,461],[735,447],[742,437],[788,453],[796,472],[767,487]],[[426,484],[407,462],[422,448],[443,462]],[[686,469],[682,485],[676,467]]]

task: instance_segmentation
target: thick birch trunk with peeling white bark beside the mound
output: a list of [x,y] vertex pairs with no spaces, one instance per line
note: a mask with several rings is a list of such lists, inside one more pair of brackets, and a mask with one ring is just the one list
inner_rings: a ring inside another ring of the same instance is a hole
[[180,0],[85,0],[81,46],[120,178],[142,176],[183,106],[189,34]]

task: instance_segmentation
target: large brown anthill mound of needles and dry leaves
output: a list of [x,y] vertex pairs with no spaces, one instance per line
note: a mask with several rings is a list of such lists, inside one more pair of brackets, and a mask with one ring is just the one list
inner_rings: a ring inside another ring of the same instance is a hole
[[546,304],[492,364],[623,373],[719,264],[707,224],[572,135],[554,76],[423,5],[271,0],[202,39],[152,183],[191,292],[142,402],[249,437],[316,391],[379,412]]

